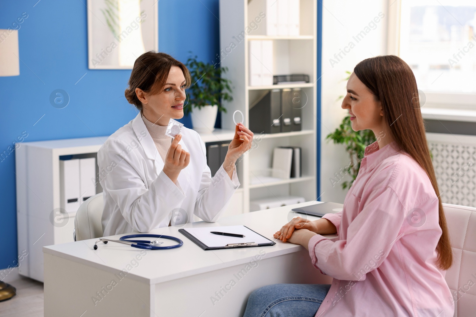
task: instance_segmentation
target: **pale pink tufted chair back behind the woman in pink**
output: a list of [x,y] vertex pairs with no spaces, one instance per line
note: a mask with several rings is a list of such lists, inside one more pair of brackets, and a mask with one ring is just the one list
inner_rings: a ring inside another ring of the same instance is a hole
[[445,276],[454,294],[454,317],[473,317],[476,311],[476,286],[472,286],[476,283],[476,208],[444,203],[443,209],[454,259]]

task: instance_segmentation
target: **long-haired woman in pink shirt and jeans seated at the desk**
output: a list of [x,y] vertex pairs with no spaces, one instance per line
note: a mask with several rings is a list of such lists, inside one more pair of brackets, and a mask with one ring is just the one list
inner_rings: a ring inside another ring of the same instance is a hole
[[[344,208],[317,221],[297,217],[274,235],[304,246],[331,285],[254,290],[245,317],[452,317],[445,281],[452,253],[417,83],[396,56],[367,58],[347,82],[342,108],[368,145]],[[338,240],[321,234],[335,233]]]

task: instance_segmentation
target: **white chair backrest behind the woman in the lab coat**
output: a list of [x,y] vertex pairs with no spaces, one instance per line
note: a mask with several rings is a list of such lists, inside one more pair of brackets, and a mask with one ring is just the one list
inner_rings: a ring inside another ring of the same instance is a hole
[[73,237],[75,241],[101,238],[101,217],[104,208],[102,192],[89,197],[79,206],[74,218]]

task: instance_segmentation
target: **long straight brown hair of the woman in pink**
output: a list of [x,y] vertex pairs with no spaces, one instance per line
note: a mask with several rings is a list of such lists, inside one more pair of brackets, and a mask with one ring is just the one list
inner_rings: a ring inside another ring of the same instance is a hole
[[446,226],[445,213],[436,183],[435,171],[426,143],[425,126],[421,116],[417,81],[411,68],[394,55],[367,58],[357,64],[354,73],[382,103],[387,127],[395,143],[425,170],[438,197],[441,237],[436,246],[440,269],[451,267],[453,254]]

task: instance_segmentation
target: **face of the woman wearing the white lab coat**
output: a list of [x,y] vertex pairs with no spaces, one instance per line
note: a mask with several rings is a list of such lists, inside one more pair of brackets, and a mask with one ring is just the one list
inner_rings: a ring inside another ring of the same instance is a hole
[[185,84],[182,69],[172,66],[162,90],[156,95],[147,96],[148,102],[143,107],[146,118],[158,125],[168,125],[170,118],[182,118]]

